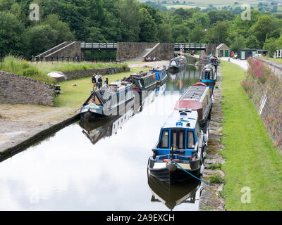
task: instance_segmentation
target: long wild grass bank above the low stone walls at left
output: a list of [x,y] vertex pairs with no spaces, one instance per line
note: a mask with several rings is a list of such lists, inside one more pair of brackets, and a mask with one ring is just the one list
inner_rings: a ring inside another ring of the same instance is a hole
[[0,63],[0,70],[6,72],[12,72],[16,75],[22,75],[25,77],[30,77],[32,79],[39,79],[47,83],[56,83],[54,79],[47,76],[49,72],[52,71],[73,71],[73,70],[90,70],[90,69],[99,69],[99,68],[108,68],[108,67],[123,67],[127,66],[126,64],[114,64],[114,63],[31,63],[20,58],[15,58],[13,56],[8,56],[4,58],[3,62]]

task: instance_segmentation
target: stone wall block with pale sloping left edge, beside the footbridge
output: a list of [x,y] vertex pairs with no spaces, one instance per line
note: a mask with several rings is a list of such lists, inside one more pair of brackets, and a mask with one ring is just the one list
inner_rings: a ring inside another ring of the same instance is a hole
[[173,43],[158,43],[145,57],[157,57],[161,60],[171,60],[174,57]]

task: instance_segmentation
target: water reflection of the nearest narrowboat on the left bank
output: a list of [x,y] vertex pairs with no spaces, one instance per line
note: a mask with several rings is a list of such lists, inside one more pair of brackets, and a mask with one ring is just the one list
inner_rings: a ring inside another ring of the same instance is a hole
[[107,120],[99,120],[96,122],[85,122],[80,120],[80,127],[82,127],[82,133],[85,134],[87,139],[90,139],[94,145],[101,139],[107,136],[116,134],[118,129],[121,129],[123,124],[133,117],[133,108],[130,108],[124,115],[117,117],[110,117]]

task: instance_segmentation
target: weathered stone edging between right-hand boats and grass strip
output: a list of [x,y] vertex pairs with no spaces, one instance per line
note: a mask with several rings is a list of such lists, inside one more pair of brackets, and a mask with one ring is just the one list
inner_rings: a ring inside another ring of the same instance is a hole
[[[225,199],[223,198],[223,177],[225,174],[221,170],[221,165],[225,160],[219,155],[224,146],[221,143],[223,113],[221,107],[221,68],[218,69],[216,86],[214,88],[214,99],[212,105],[212,117],[209,123],[209,142],[207,146],[207,154],[204,157],[204,172],[202,179],[204,181],[214,181],[213,186],[202,182],[200,186],[199,210],[224,211]],[[216,184],[214,184],[216,183]]]

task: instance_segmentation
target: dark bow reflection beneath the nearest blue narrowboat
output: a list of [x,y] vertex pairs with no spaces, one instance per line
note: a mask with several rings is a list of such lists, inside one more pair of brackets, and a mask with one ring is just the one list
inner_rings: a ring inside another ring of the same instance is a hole
[[197,179],[169,185],[167,182],[154,178],[149,173],[147,176],[148,185],[152,191],[152,203],[164,203],[168,209],[173,210],[176,205],[183,203],[195,204],[199,200],[197,191],[201,186],[201,181]]

